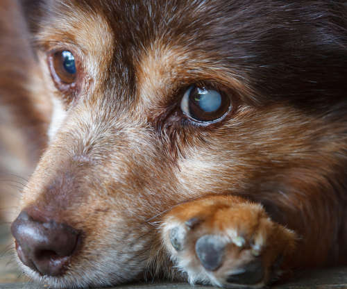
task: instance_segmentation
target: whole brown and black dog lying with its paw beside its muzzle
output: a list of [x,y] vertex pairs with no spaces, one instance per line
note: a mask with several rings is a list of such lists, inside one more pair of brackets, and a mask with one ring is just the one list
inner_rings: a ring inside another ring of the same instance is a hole
[[49,115],[11,226],[28,276],[262,288],[347,264],[344,1],[20,5]]

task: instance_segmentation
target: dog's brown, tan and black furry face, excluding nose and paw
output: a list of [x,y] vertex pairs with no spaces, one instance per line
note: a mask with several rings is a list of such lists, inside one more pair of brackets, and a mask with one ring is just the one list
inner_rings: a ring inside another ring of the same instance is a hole
[[61,276],[24,266],[34,279],[140,278],[167,261],[158,217],[176,204],[234,193],[266,205],[322,163],[332,170],[347,63],[318,13],[327,4],[40,2],[34,40],[53,116],[22,208],[80,234]]

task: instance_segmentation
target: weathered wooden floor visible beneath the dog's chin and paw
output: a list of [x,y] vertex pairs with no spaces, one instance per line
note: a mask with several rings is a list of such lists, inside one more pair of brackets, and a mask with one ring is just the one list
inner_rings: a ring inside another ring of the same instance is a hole
[[[1,1],[1,0],[0,0]],[[20,276],[17,265],[13,261],[13,252],[10,250],[11,240],[8,238],[8,226],[0,225],[0,289],[47,289],[48,286],[39,286],[28,282]],[[117,286],[117,289],[201,289],[207,286],[189,286],[186,283],[146,283]],[[347,267],[329,270],[315,270],[298,272],[291,281],[271,286],[271,289],[347,289]]]

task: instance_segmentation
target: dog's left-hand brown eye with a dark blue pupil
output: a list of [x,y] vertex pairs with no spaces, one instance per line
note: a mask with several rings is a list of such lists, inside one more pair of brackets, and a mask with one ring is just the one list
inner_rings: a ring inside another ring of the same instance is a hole
[[62,90],[68,85],[71,87],[76,81],[76,61],[71,51],[58,51],[49,58],[51,74],[57,85],[62,85]]

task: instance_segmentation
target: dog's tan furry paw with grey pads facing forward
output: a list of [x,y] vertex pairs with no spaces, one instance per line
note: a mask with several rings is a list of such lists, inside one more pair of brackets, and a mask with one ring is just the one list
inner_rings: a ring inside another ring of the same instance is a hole
[[261,288],[294,250],[295,234],[259,204],[209,197],[181,204],[162,224],[164,246],[189,283]]

